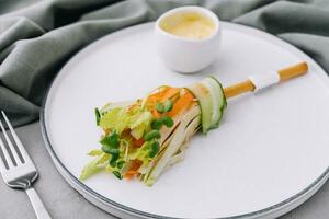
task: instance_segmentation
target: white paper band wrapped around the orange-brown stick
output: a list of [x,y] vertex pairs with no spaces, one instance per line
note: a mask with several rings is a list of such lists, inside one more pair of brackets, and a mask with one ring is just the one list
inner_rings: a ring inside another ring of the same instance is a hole
[[256,87],[254,91],[273,85],[280,82],[280,74],[276,71],[271,71],[268,73],[249,76],[248,79]]

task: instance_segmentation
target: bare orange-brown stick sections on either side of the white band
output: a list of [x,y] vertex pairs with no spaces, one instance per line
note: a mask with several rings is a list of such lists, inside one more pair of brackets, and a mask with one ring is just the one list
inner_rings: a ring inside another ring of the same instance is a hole
[[[287,68],[281,69],[277,71],[277,74],[280,76],[280,82],[305,74],[307,70],[308,66],[306,62],[300,62],[295,66],[290,66]],[[225,88],[224,93],[226,99],[230,99],[241,93],[252,92],[254,90],[256,85],[251,82],[251,80],[248,79],[243,82]]]

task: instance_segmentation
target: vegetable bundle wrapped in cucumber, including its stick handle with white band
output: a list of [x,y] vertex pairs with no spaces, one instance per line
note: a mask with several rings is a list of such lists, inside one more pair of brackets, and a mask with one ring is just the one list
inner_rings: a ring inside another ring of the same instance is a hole
[[200,129],[219,125],[226,100],[279,83],[307,72],[298,65],[249,77],[223,89],[213,77],[185,88],[162,85],[144,99],[110,103],[95,108],[97,125],[103,130],[100,149],[82,170],[80,180],[105,170],[117,178],[138,178],[151,186],[158,176],[181,161],[189,139]]

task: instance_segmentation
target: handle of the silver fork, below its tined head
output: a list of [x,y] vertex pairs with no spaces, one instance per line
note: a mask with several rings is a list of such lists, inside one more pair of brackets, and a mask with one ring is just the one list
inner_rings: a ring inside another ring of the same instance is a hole
[[30,198],[30,201],[33,206],[37,219],[52,219],[52,217],[49,216],[47,209],[45,208],[43,201],[38,197],[35,189],[33,187],[30,187],[25,192]]

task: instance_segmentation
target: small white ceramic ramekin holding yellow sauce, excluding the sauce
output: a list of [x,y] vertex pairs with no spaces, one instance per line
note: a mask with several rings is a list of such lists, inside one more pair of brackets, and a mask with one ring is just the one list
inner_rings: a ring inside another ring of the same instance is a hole
[[[209,18],[215,30],[206,38],[191,39],[170,34],[161,28],[160,22],[177,13],[197,12]],[[218,56],[220,46],[219,19],[212,11],[202,7],[181,7],[162,14],[156,22],[155,36],[157,49],[164,64],[172,70],[193,73],[208,67]]]

